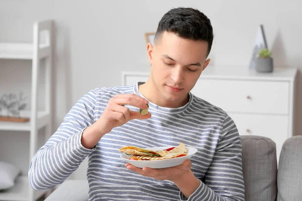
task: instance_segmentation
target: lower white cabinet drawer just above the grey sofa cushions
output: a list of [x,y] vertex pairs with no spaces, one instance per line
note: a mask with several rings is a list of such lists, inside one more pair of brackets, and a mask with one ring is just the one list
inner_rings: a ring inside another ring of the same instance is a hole
[[279,158],[282,145],[288,138],[287,116],[228,114],[234,120],[239,135],[264,136],[273,140]]

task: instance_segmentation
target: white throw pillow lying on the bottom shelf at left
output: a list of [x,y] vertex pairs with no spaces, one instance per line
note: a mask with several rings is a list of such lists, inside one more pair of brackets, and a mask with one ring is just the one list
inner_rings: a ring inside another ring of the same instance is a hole
[[20,172],[20,169],[15,165],[0,161],[0,190],[13,187]]

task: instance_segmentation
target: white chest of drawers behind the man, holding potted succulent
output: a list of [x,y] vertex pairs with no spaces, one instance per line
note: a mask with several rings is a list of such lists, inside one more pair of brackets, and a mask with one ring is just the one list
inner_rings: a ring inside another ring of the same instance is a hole
[[[223,109],[240,135],[269,137],[277,160],[283,142],[293,135],[297,69],[257,73],[248,67],[208,66],[191,92]],[[122,84],[146,81],[148,72],[122,72]]]

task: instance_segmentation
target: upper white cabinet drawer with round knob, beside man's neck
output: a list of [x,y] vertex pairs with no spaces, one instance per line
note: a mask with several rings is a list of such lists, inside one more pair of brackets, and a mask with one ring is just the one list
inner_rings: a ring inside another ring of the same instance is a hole
[[192,93],[226,112],[288,114],[289,83],[200,78]]

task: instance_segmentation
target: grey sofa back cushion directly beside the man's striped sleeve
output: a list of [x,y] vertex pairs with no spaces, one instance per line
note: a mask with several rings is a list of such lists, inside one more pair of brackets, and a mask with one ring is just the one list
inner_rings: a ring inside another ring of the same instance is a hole
[[276,144],[267,137],[240,136],[246,201],[275,201]]

